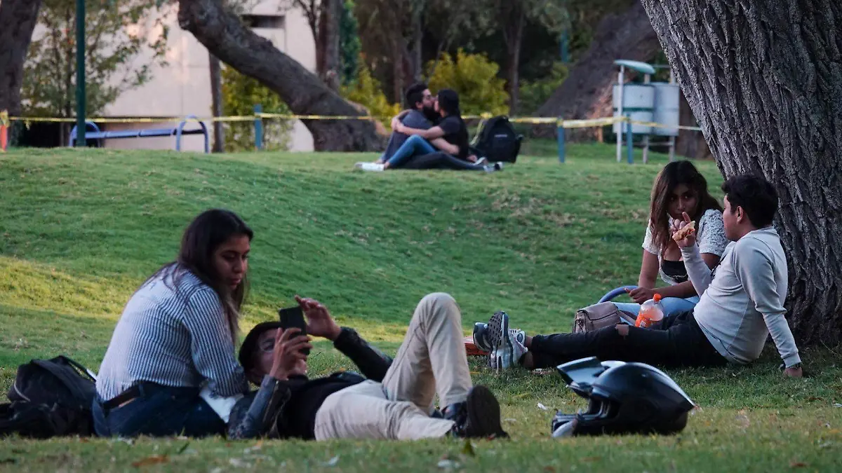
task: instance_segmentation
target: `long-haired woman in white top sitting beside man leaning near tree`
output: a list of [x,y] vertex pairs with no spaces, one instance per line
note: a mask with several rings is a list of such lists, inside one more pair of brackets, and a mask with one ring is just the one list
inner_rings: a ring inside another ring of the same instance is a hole
[[[681,250],[672,238],[672,226],[675,221],[683,221],[684,213],[695,222],[701,258],[709,268],[719,263],[728,243],[722,225],[722,206],[707,191],[707,181],[693,163],[670,162],[653,184],[640,276],[637,289],[629,291],[634,303],[616,302],[621,311],[637,315],[640,305],[652,299],[655,292],[663,297],[664,315],[692,311],[699,302],[700,295],[687,276]],[[655,290],[658,276],[668,285]]]

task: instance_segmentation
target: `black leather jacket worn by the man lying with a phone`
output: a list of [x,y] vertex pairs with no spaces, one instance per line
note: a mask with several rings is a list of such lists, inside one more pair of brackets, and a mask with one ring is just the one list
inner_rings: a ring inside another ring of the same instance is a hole
[[299,376],[285,381],[265,375],[260,389],[243,397],[233,407],[228,420],[228,438],[290,437],[294,435],[290,431],[300,430],[301,427],[290,428],[284,422],[285,407],[293,393],[320,383],[338,382],[350,386],[365,379],[380,382],[392,365],[391,358],[371,347],[353,328],[342,327],[333,347],[351,359],[362,375],[346,371],[314,380]]

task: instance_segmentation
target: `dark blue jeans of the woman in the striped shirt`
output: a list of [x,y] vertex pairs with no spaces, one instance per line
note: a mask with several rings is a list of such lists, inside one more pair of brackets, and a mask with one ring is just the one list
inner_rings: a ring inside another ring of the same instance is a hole
[[108,409],[93,401],[93,428],[100,437],[205,437],[225,433],[222,419],[199,397],[198,388],[141,385],[141,395]]

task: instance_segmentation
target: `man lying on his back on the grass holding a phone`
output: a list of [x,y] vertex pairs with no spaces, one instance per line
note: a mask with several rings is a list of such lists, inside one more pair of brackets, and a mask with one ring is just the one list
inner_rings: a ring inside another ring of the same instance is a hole
[[[462,341],[461,313],[446,294],[422,299],[392,360],[357,332],[340,328],[328,310],[296,297],[306,332],[333,341],[368,378],[353,373],[308,380],[311,348],[298,329],[264,322],[248,333],[240,363],[260,389],[237,401],[229,438],[504,437],[500,407],[491,391],[473,386]],[[444,407],[434,414],[434,396]]]

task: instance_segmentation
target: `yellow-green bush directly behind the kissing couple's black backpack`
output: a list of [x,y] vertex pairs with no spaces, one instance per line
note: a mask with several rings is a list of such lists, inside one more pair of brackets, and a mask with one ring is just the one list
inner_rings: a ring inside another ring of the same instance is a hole
[[430,90],[451,88],[459,93],[462,114],[509,114],[509,93],[497,77],[500,66],[484,54],[456,52],[456,58],[442,53],[438,63],[427,63]]

